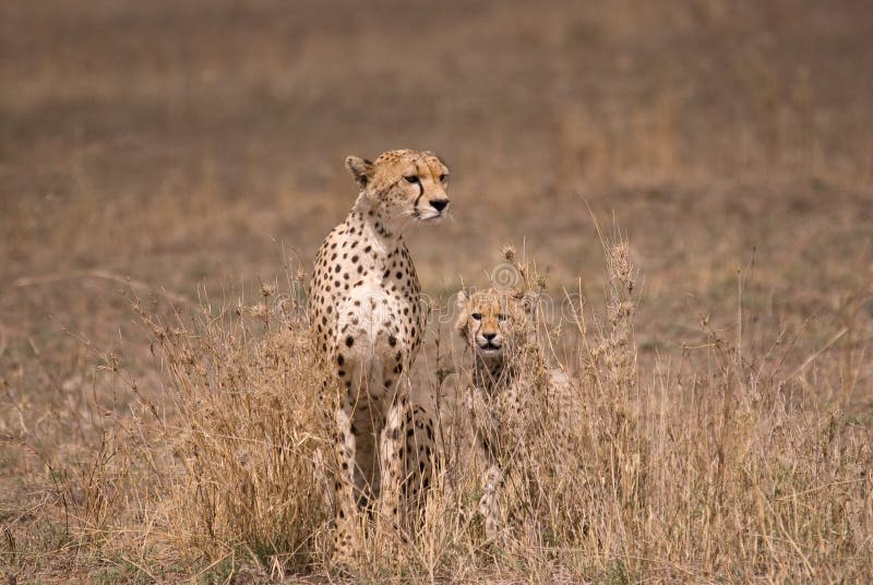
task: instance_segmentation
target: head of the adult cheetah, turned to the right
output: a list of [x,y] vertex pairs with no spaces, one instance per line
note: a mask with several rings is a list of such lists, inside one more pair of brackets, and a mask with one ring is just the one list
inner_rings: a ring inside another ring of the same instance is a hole
[[410,219],[438,223],[449,211],[449,167],[429,151],[388,151],[375,163],[349,156],[346,168],[361,188],[357,205],[378,213],[388,229]]

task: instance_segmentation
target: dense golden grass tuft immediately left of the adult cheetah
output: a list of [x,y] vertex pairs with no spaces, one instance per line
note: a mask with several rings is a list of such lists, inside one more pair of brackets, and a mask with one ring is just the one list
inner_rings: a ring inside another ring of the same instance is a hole
[[302,309],[275,290],[262,285],[261,302],[204,312],[194,327],[141,313],[176,411],[166,534],[177,550],[266,574],[321,560],[330,517],[320,372]]

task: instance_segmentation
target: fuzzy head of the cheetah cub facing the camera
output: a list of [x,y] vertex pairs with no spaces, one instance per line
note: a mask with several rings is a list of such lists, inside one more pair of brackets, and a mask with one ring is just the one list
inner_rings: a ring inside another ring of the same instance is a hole
[[477,290],[457,294],[459,310],[455,324],[476,355],[502,361],[522,341],[529,324],[528,299],[512,290]]

